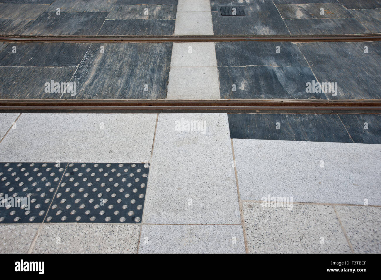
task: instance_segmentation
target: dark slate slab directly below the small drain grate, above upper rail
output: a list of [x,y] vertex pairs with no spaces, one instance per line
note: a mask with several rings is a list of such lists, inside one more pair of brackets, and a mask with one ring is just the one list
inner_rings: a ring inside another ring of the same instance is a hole
[[212,12],[215,35],[290,35],[278,11],[246,11],[246,16]]

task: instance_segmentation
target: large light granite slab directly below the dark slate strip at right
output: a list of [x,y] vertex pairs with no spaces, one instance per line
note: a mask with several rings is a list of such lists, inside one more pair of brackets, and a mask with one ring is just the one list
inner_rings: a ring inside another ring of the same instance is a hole
[[381,146],[233,139],[242,200],[381,205]]

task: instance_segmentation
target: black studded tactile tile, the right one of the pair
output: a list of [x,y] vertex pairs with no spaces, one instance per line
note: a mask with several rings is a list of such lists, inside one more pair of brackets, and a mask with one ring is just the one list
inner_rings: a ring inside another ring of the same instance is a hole
[[148,163],[70,163],[46,222],[140,222]]

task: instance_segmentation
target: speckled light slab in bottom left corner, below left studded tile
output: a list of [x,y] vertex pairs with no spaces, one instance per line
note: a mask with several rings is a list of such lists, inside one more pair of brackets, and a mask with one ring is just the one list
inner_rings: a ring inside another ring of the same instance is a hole
[[28,253],[39,226],[40,224],[0,225],[0,253]]

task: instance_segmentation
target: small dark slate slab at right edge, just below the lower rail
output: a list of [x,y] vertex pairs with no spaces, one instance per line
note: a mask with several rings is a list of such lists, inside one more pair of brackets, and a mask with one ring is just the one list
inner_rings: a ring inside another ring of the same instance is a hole
[[[339,115],[355,143],[381,144],[381,115]],[[367,123],[367,128],[366,124]]]

